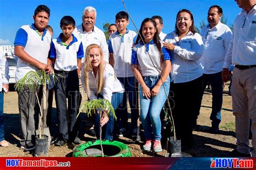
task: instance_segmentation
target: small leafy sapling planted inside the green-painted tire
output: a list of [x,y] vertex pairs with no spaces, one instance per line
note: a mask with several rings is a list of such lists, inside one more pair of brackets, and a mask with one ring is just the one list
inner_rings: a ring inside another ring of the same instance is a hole
[[[105,111],[105,112],[104,112]],[[114,118],[117,119],[116,114],[114,114],[114,109],[110,101],[103,98],[86,101],[81,105],[79,113],[86,112],[87,116],[92,116],[92,114],[99,114],[100,120],[102,119],[102,114],[106,113],[109,116],[110,112],[113,114]],[[104,157],[103,147],[102,147],[102,126],[100,126],[100,147],[102,148],[102,157]]]

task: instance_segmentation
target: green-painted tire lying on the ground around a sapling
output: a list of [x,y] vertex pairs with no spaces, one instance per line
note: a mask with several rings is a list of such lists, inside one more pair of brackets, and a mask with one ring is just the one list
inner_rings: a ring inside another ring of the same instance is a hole
[[[103,140],[104,157],[131,157],[130,148],[119,142]],[[80,144],[73,151],[73,157],[102,157],[100,140]]]

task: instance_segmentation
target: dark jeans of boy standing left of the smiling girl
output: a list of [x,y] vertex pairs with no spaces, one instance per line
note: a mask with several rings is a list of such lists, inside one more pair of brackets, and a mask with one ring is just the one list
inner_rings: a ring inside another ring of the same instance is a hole
[[138,95],[136,89],[138,82],[135,77],[117,77],[117,79],[124,85],[125,93],[122,104],[118,107],[117,122],[121,119],[120,128],[128,128],[128,111],[127,111],[127,96],[131,108],[131,123],[132,129],[137,128],[137,119],[139,118],[138,111]]

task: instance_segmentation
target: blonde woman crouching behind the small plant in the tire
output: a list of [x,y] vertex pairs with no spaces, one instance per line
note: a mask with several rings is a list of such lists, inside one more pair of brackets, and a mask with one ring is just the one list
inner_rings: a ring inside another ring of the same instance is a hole
[[[109,100],[114,110],[116,110],[123,100],[123,84],[114,76],[113,67],[103,60],[102,48],[99,45],[89,45],[86,48],[85,55],[81,80],[88,99],[104,98]],[[99,138],[100,126],[103,126],[102,138],[113,140],[114,117],[112,113],[110,113],[109,117],[103,114],[101,120],[99,114],[95,116],[97,138]]]

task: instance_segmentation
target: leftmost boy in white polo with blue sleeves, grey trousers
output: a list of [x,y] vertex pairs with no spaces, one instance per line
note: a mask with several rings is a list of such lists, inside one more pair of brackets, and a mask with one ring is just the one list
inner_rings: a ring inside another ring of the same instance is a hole
[[[15,55],[18,56],[15,73],[16,81],[22,79],[31,70],[43,69],[46,73],[51,73],[51,61],[48,60],[51,34],[45,29],[48,25],[49,17],[50,9],[45,5],[39,5],[33,15],[34,23],[23,25],[17,31],[14,41]],[[29,88],[17,91],[21,119],[21,147],[25,151],[35,148],[35,121],[38,121],[38,119],[34,119],[35,107],[38,106],[35,92],[35,90]],[[42,97],[42,90],[39,91],[38,95],[39,98]],[[36,115],[39,113],[39,109],[37,110]]]

